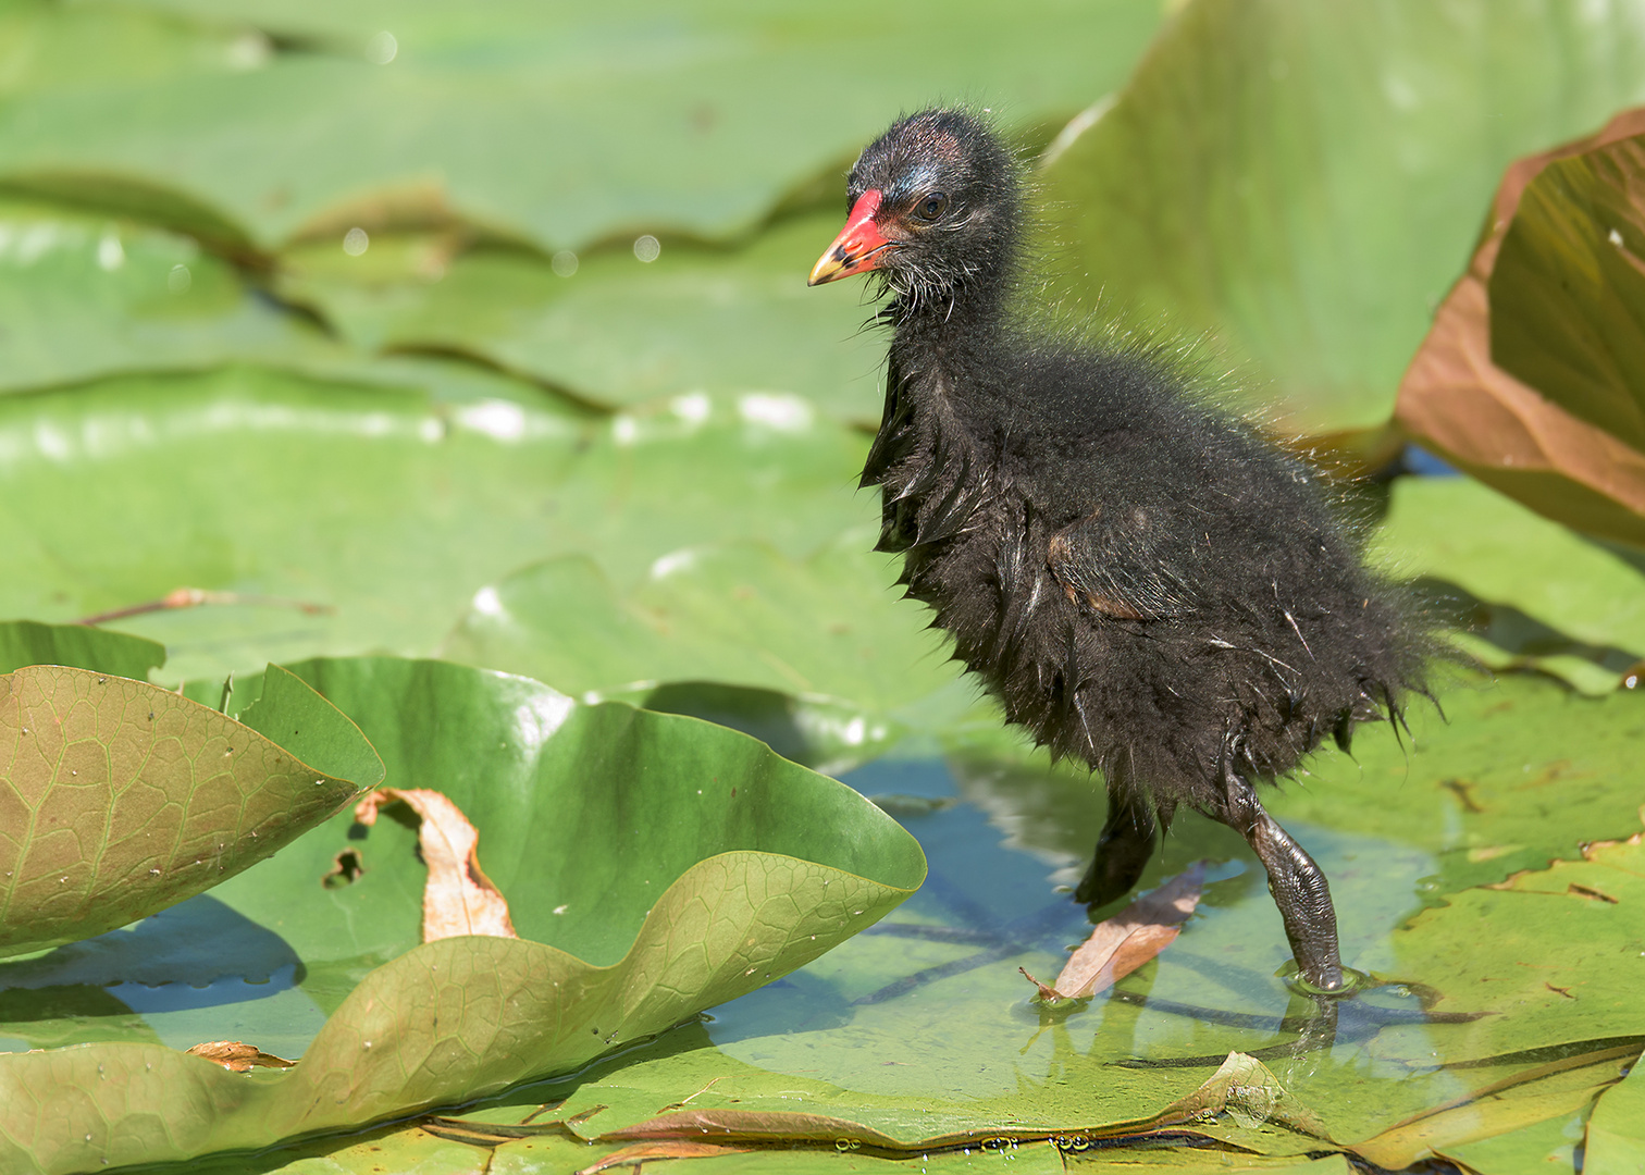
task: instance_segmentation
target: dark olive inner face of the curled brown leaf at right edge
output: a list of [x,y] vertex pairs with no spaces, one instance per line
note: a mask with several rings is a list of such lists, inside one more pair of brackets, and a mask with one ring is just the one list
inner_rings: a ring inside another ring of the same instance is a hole
[[1645,449],[1645,140],[1555,160],[1531,179],[1490,272],[1492,360]]

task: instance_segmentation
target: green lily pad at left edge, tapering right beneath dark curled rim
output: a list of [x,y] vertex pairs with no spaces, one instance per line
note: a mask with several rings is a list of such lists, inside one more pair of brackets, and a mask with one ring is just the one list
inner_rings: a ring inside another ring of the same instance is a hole
[[0,204],[0,392],[332,349],[191,237]]

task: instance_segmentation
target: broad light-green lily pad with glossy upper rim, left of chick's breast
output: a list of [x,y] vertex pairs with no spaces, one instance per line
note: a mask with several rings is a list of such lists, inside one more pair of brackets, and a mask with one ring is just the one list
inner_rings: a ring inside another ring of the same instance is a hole
[[[625,588],[688,543],[803,556],[872,517],[865,439],[795,397],[683,397],[591,423],[265,369],[0,397],[0,615],[115,620],[178,678],[428,653],[474,592],[584,551]],[[164,476],[156,476],[164,469]]]

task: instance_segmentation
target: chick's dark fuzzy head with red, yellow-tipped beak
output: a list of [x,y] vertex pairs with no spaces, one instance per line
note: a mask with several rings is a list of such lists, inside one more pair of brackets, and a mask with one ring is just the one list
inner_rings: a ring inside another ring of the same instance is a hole
[[1012,151],[974,114],[900,118],[852,166],[846,227],[811,285],[875,272],[916,304],[990,278],[999,285],[1020,232],[1017,173]]

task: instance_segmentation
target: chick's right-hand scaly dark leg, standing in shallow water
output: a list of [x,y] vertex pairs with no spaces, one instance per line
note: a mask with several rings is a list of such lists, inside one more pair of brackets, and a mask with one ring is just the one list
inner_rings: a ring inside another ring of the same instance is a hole
[[1234,770],[1222,765],[1224,801],[1221,811],[1209,813],[1237,831],[1268,871],[1268,892],[1285,920],[1285,936],[1301,978],[1319,991],[1342,986],[1342,956],[1337,950],[1336,907],[1331,885],[1314,859],[1263,811],[1257,790]]

